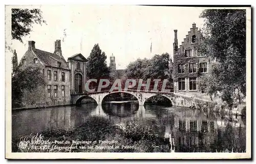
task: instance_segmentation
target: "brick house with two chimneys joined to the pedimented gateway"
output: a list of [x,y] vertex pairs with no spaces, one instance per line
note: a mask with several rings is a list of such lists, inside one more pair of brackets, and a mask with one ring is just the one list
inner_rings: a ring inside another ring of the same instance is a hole
[[81,54],[76,54],[69,58],[70,63],[68,63],[62,56],[60,40],[55,41],[54,53],[36,49],[35,41],[29,41],[28,44],[28,50],[18,67],[21,69],[26,66],[40,67],[47,84],[39,86],[33,92],[25,92],[23,101],[27,102],[26,106],[47,107],[70,104],[71,91],[77,93],[83,91],[87,59]]

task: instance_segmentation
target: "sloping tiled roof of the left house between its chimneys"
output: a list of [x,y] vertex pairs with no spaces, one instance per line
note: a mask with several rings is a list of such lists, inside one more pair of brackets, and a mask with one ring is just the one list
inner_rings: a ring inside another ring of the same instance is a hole
[[46,66],[59,67],[58,63],[61,63],[60,68],[69,69],[69,65],[63,57],[38,49],[33,50],[33,52]]

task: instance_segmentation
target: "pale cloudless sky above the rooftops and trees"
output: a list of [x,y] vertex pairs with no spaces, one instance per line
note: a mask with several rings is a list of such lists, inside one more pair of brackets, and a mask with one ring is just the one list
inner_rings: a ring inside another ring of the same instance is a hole
[[[29,6],[31,8],[31,6]],[[34,40],[36,49],[54,52],[54,41],[61,40],[62,56],[81,53],[88,58],[94,44],[107,56],[116,58],[116,68],[124,69],[138,58],[151,58],[155,54],[173,56],[174,30],[178,30],[178,43],[196,23],[203,8],[163,6],[37,6],[47,25],[34,24],[32,32],[18,40],[7,41],[16,50],[18,61],[28,49],[28,41]],[[17,6],[17,8],[19,8]],[[25,7],[27,8],[27,7]],[[35,6],[32,6],[35,8]],[[152,42],[152,53],[150,46]]]

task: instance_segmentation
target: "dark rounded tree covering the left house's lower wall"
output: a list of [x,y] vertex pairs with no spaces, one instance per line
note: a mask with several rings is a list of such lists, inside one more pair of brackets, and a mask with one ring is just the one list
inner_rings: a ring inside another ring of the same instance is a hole
[[12,77],[12,105],[20,106],[25,90],[31,91],[45,84],[45,77],[39,67],[28,66],[24,69],[16,69]]

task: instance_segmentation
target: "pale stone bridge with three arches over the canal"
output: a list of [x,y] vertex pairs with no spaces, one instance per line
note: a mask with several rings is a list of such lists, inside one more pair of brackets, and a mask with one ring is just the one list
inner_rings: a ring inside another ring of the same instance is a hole
[[76,95],[71,95],[71,104],[79,105],[81,104],[81,100],[86,97],[93,98],[98,105],[102,104],[102,100],[113,93],[129,93],[135,96],[139,102],[139,105],[144,105],[145,101],[153,96],[163,96],[172,102],[172,105],[175,105],[173,102],[174,93],[173,92],[160,92],[160,91],[143,91],[143,90],[121,90],[121,91],[101,91],[101,92],[88,92],[88,93],[81,93]]

